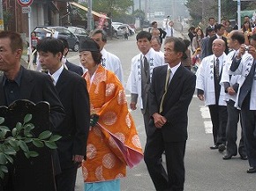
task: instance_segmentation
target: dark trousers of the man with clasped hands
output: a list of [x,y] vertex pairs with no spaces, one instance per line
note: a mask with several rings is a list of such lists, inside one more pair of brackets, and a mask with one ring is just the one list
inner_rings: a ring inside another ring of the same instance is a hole
[[[184,151],[183,142],[164,142],[162,129],[156,129],[147,137],[144,160],[148,173],[157,191],[184,190]],[[165,151],[167,172],[162,165],[162,152]]]

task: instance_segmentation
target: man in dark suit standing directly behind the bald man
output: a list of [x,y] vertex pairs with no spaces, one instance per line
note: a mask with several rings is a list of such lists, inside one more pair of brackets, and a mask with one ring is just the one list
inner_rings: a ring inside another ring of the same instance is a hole
[[223,26],[222,24],[217,24],[215,26],[216,34],[210,38],[209,43],[208,43],[208,53],[209,53],[209,55],[214,54],[212,47],[213,47],[213,41],[215,39],[222,39],[222,40],[225,41],[225,44],[226,44],[225,53],[226,53],[226,55],[229,54],[229,47],[228,47],[227,38],[222,36],[225,33],[225,30],[226,30],[225,26]]

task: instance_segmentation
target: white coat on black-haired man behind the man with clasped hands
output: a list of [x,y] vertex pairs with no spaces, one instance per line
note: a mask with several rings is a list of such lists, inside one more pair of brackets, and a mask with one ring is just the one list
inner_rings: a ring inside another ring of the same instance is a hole
[[[131,93],[138,94],[138,102],[141,109],[142,106],[142,99],[141,99],[141,63],[143,62],[142,53],[139,55],[135,55],[132,58],[132,67],[131,73],[128,77],[128,81],[126,84],[126,89],[129,90]],[[152,77],[152,72],[154,67],[162,66],[165,64],[164,58],[158,52],[155,52],[153,48],[150,48],[147,53],[147,60],[149,62],[149,69],[150,69],[150,82]]]

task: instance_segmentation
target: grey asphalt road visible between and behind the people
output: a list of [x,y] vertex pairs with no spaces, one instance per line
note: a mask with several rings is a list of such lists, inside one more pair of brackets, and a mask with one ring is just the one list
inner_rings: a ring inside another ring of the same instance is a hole
[[[181,36],[181,34],[179,34]],[[124,81],[130,73],[131,59],[139,53],[135,36],[129,40],[109,40],[106,49],[117,55],[122,62]],[[71,52],[69,61],[79,64],[79,54]],[[130,101],[129,92],[127,99]],[[139,109],[132,111],[142,145],[146,143],[142,114]],[[232,158],[222,160],[223,155],[211,151],[213,144],[207,107],[194,96],[189,108],[189,138],[185,152],[185,191],[255,191],[256,174],[247,174],[248,161]],[[239,134],[238,134],[239,136]],[[164,161],[163,161],[164,162]],[[83,179],[79,169],[76,191],[83,190]],[[144,161],[127,169],[127,177],[121,180],[122,191],[153,191],[154,185],[147,173]]]

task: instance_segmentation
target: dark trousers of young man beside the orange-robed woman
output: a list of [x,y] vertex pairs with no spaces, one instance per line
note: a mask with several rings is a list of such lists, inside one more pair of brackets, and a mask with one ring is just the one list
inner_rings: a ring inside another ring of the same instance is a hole
[[56,175],[57,191],[74,191],[77,179],[78,166],[74,165],[70,168],[62,170],[62,173]]

